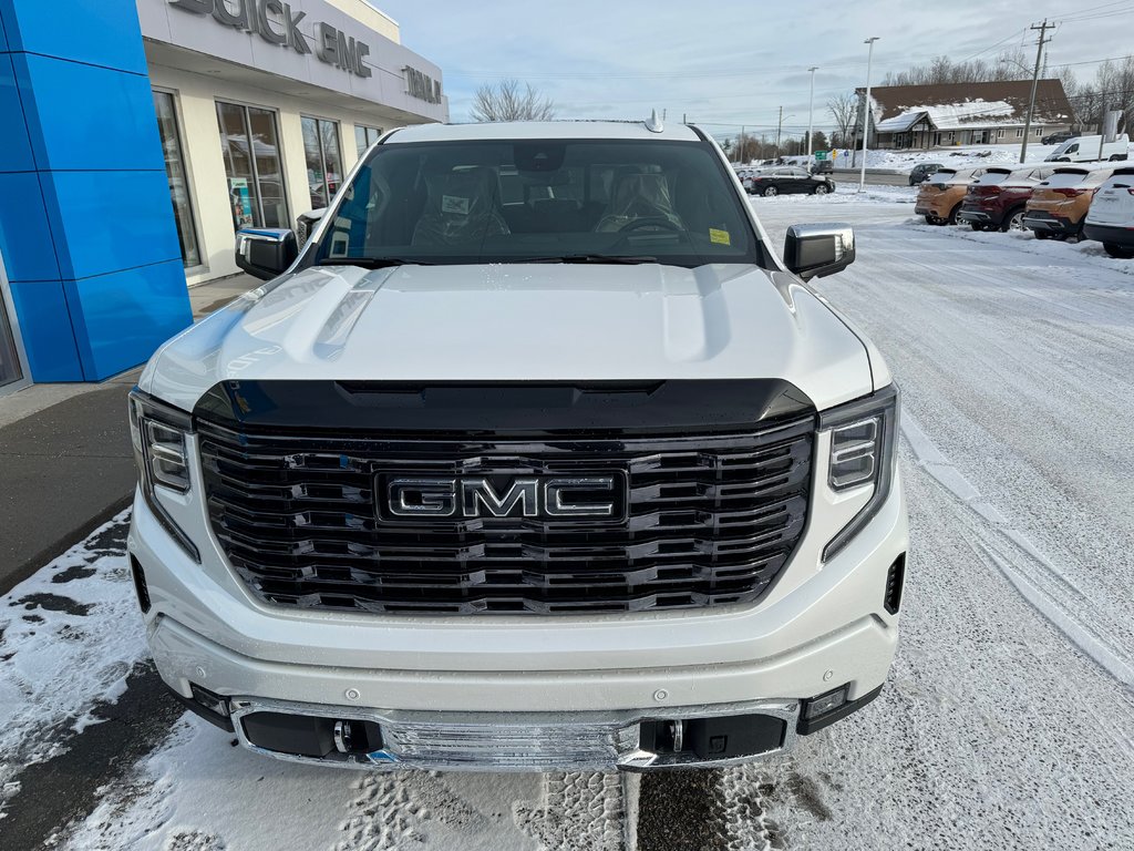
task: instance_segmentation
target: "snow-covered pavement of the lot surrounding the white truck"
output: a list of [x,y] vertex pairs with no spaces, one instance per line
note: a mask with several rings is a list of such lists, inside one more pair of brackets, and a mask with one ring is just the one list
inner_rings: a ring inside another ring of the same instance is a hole
[[[1134,848],[1134,261],[929,227],[912,200],[840,187],[752,202],[777,246],[796,221],[855,225],[857,262],[815,286],[903,388],[913,551],[898,657],[869,708],[788,758],[641,787],[297,767],[186,716],[57,844]],[[61,764],[142,663],[121,531],[0,599],[6,814],[39,806],[22,766]],[[0,846],[18,848],[5,820]]]

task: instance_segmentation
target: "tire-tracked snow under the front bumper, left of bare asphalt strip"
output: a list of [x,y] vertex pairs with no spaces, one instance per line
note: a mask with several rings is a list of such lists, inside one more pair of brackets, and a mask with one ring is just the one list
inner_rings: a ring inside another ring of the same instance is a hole
[[619,851],[625,776],[315,768],[236,748],[186,715],[70,851]]

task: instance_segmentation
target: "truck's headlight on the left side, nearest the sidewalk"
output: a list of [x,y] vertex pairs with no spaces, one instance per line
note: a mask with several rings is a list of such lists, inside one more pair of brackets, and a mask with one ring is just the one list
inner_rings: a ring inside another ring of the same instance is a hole
[[177,494],[191,490],[189,457],[186,436],[193,430],[193,418],[176,407],[164,405],[138,390],[130,391],[130,439],[138,467],[138,485],[146,505],[174,539],[194,561],[201,555],[188,536],[174,522],[158,499],[156,488]]

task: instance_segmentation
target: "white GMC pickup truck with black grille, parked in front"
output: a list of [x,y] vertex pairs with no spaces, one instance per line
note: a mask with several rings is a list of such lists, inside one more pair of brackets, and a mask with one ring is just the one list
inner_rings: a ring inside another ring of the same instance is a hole
[[874,698],[907,550],[898,394],[716,143],[388,133],[310,239],[130,398],[130,564],[172,692],[322,765],[663,769]]

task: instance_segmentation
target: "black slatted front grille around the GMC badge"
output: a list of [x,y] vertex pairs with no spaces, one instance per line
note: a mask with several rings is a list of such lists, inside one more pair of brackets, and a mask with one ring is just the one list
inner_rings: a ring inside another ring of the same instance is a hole
[[[263,600],[374,613],[599,613],[753,603],[807,519],[814,419],[697,437],[337,438],[198,421],[213,531]],[[395,472],[625,473],[619,522],[391,523]]]

